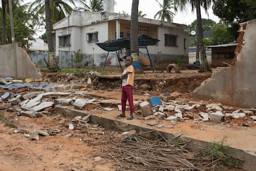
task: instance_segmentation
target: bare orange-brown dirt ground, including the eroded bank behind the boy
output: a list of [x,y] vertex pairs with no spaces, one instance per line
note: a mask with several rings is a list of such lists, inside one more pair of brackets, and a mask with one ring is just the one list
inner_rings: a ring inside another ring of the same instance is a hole
[[[115,77],[116,75],[116,77]],[[200,76],[200,77],[199,77]],[[189,93],[200,83],[209,78],[208,73],[197,73],[194,71],[176,73],[136,73],[136,85],[134,99],[146,100],[149,96],[156,96],[162,93],[171,93],[174,90]],[[111,72],[104,77],[93,80],[91,86],[81,88],[81,91],[88,91],[91,94],[100,94],[102,97],[120,99],[120,81],[117,79],[119,73]],[[77,75],[56,75],[55,73],[45,73],[43,80],[58,84],[78,84],[88,83],[88,75],[79,77]],[[173,82],[172,82],[173,81]],[[192,83],[193,82],[193,83]],[[143,86],[142,86],[143,85]],[[167,86],[166,86],[167,85]],[[3,102],[1,102],[1,105]],[[30,118],[19,116],[15,111],[1,110],[5,120],[11,121],[16,128],[6,127],[0,121],[0,170],[1,171],[27,171],[27,170],[116,170],[116,162],[108,158],[99,157],[102,152],[108,149],[109,138],[115,138],[114,131],[88,132],[87,128],[69,129],[70,118],[64,118],[56,114],[45,114],[42,117]],[[119,111],[88,111],[91,114],[108,115],[115,117]],[[124,122],[127,122],[124,120]],[[135,115],[133,122],[145,122],[140,115]],[[165,121],[162,121],[163,124]],[[167,124],[167,123],[166,123]],[[96,127],[96,126],[95,126]],[[176,133],[194,134],[203,136],[202,131],[216,131],[218,136],[221,131],[218,127],[225,125],[210,123],[195,124],[192,121],[174,126]],[[228,130],[228,127],[226,127]],[[157,129],[157,128],[156,128]],[[164,128],[167,129],[168,128]],[[169,128],[170,129],[170,128]],[[234,127],[239,129],[239,127]],[[48,130],[51,136],[40,136],[40,140],[29,140],[25,135],[34,130]],[[53,131],[51,131],[53,130]],[[55,133],[57,130],[58,133]],[[191,130],[191,131],[190,131]],[[201,133],[202,134],[201,134]],[[206,138],[207,139],[207,138]],[[246,142],[245,142],[246,143]],[[239,146],[239,144],[237,144]]]

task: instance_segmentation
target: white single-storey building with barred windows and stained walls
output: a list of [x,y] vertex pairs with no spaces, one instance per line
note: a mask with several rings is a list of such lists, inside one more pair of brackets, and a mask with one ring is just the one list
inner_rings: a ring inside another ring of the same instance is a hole
[[[65,19],[53,25],[56,33],[56,56],[60,67],[73,52],[85,53],[83,65],[102,66],[107,52],[96,43],[130,36],[130,15],[113,12],[73,11]],[[139,35],[147,35],[160,40],[148,46],[153,64],[164,66],[176,61],[177,57],[186,59],[189,55],[189,27],[178,23],[139,17]],[[145,49],[140,49],[145,51]],[[74,57],[72,57],[73,59]],[[62,63],[62,64],[61,64]],[[115,52],[109,52],[108,65],[118,65]]]

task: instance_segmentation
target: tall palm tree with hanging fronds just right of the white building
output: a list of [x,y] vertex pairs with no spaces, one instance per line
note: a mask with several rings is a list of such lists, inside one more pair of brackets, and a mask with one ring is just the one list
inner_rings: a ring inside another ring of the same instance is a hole
[[184,10],[187,3],[189,3],[192,7],[192,11],[196,9],[197,11],[197,50],[200,52],[200,60],[202,65],[200,65],[199,72],[209,72],[210,67],[208,66],[206,54],[205,54],[205,45],[203,43],[203,27],[202,27],[202,17],[201,17],[201,9],[202,6],[205,11],[210,8],[211,2],[214,0],[174,0],[175,9],[179,7],[179,9]]

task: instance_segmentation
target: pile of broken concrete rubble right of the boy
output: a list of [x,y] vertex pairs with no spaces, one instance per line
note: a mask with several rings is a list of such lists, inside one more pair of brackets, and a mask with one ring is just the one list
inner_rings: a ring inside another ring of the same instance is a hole
[[[162,94],[160,102],[144,101],[139,104],[140,110],[148,125],[157,125],[157,120],[169,120],[173,125],[179,122],[193,119],[194,122],[218,122],[230,126],[256,125],[256,109],[239,109],[237,107],[223,106],[213,101],[193,101],[193,99],[181,98],[182,93]],[[157,97],[156,97],[157,98]],[[158,125],[164,127],[164,125]]]

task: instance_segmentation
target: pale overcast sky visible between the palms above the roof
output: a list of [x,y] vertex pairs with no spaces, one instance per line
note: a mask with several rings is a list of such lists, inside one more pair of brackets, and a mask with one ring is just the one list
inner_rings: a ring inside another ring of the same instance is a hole
[[[23,2],[32,2],[33,0],[23,0]],[[123,11],[130,15],[131,8],[132,8],[132,0],[114,0],[114,12],[122,13]],[[161,3],[163,0],[159,0]],[[87,0],[88,2],[88,0]],[[142,10],[142,14],[147,14],[146,18],[154,19],[154,15],[158,10],[160,10],[160,6],[156,0],[139,0],[139,10]],[[201,9],[201,15],[203,19],[211,19],[218,23],[220,19],[213,15],[212,9],[207,11],[208,14],[205,13],[205,10]],[[197,19],[196,11],[192,12],[190,6],[187,6],[187,10],[182,12],[177,12],[174,16],[173,22],[174,23],[181,23],[189,25],[190,23],[194,22]],[[44,33],[45,31],[41,31]],[[40,33],[39,33],[40,35]]]

